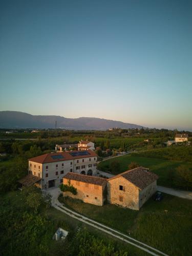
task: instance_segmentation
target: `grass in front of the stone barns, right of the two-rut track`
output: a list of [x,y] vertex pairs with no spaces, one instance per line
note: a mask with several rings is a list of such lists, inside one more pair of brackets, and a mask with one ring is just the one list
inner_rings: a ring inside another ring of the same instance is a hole
[[[139,211],[106,204],[96,206],[70,198],[61,199],[69,208],[121,230],[169,255],[190,255],[192,250],[192,202],[164,195],[150,199]],[[165,213],[167,210],[167,213]]]

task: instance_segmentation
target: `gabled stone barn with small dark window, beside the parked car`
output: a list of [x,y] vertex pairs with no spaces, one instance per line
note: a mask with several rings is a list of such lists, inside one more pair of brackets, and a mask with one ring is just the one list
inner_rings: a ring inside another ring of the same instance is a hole
[[134,210],[156,192],[158,176],[147,168],[137,167],[107,180],[108,202]]

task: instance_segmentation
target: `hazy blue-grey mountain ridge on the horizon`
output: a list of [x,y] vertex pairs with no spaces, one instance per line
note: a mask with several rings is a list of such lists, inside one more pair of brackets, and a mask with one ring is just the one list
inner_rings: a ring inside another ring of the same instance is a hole
[[123,123],[95,117],[33,116],[17,111],[0,111],[0,128],[54,128],[55,120],[57,120],[57,127],[68,130],[107,130],[112,127],[123,129],[142,128],[141,125],[133,123]]

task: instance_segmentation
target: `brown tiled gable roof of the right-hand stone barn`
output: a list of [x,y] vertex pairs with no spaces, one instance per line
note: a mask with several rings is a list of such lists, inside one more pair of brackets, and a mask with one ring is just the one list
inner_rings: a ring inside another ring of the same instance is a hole
[[118,177],[123,177],[124,179],[130,181],[140,190],[144,189],[158,179],[156,174],[149,172],[147,168],[142,166],[132,170],[127,170],[126,172],[118,174],[108,180],[116,179]]

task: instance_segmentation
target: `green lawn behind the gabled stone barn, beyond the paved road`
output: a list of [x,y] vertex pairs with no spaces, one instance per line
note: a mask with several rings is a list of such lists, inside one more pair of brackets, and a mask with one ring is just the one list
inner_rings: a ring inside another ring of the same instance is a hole
[[114,160],[118,161],[120,164],[120,169],[114,172],[113,174],[119,174],[125,172],[128,169],[128,165],[131,162],[137,162],[139,165],[143,167],[150,168],[150,170],[156,173],[159,176],[157,180],[158,185],[167,186],[167,187],[176,187],[172,180],[169,179],[170,172],[174,171],[179,165],[185,165],[186,167],[191,167],[191,163],[181,162],[181,161],[170,161],[164,159],[155,159],[148,157],[139,157],[126,155],[122,157],[117,157],[115,159],[110,159],[103,161],[98,164],[98,169],[106,168],[103,170],[107,170],[110,166],[110,163]]

